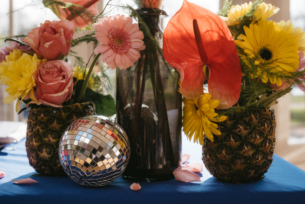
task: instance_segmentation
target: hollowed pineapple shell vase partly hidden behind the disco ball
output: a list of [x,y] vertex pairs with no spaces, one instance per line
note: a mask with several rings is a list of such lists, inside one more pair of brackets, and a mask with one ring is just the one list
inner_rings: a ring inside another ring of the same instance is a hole
[[25,143],[30,165],[40,174],[66,175],[59,161],[59,140],[74,120],[94,114],[91,102],[30,109]]

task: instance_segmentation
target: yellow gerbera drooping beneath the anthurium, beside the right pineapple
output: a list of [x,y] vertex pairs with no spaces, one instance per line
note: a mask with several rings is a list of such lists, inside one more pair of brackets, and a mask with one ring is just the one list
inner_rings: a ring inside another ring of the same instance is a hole
[[[210,93],[204,93],[196,99],[183,98],[183,132],[189,140],[194,135],[194,142],[199,141],[203,145],[203,132],[207,138],[214,141],[213,134],[220,135],[218,125],[213,122],[226,120],[226,116],[217,117],[215,108],[219,105],[219,100],[211,100]],[[216,117],[216,118],[215,118]],[[213,122],[212,122],[213,121]]]

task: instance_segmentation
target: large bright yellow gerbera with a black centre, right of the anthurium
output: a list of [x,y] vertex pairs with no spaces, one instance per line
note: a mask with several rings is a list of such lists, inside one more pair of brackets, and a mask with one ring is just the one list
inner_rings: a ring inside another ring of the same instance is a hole
[[249,28],[244,26],[244,30],[246,35],[240,35],[239,39],[242,40],[235,40],[235,44],[243,48],[256,65],[265,68],[259,69],[253,77],[260,76],[264,83],[270,80],[280,86],[282,78],[269,78],[266,70],[271,73],[282,71],[289,75],[298,68],[298,45],[295,39],[279,28],[278,24],[267,20],[250,24]]

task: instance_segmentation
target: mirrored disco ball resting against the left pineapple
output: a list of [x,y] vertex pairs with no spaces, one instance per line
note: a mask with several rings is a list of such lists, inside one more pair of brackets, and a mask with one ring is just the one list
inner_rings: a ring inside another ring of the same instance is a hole
[[130,145],[124,130],[108,117],[91,115],[70,124],[59,141],[66,174],[78,184],[104,186],[125,170]]

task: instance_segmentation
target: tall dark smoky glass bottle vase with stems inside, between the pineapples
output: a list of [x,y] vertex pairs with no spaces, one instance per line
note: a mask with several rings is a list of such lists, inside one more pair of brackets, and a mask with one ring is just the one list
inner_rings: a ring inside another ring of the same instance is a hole
[[[139,9],[162,48],[161,9]],[[133,180],[169,180],[181,159],[182,98],[179,76],[162,60],[154,39],[143,39],[146,49],[133,72],[117,69],[117,122],[127,133],[130,161],[123,173]]]

